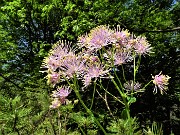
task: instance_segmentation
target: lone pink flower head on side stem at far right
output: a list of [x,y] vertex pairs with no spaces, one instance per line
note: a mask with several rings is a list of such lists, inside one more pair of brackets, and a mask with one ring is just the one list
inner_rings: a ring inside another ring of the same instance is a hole
[[163,75],[160,72],[158,75],[152,76],[153,78],[153,83],[155,84],[154,87],[154,93],[157,93],[157,87],[160,90],[160,93],[163,95],[163,92],[166,93],[165,91],[168,89],[167,85],[169,84],[168,81],[171,77],[168,75]]

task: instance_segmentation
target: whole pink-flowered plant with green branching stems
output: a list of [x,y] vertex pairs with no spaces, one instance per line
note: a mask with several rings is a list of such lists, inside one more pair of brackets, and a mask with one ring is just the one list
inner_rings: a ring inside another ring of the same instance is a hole
[[[128,30],[121,30],[120,26],[115,29],[110,29],[108,26],[98,26],[88,34],[81,35],[75,46],[66,41],[59,41],[51,49],[43,64],[43,67],[47,68],[48,83],[57,88],[57,91],[52,94],[53,102],[50,107],[58,108],[65,104],[70,91],[74,91],[82,106],[90,115],[93,115],[91,108],[95,92],[102,97],[96,88],[99,86],[105,93],[124,105],[126,118],[130,120],[129,107],[136,101],[135,94],[143,92],[151,82],[155,84],[155,93],[157,93],[157,88],[160,89],[161,94],[167,90],[170,77],[161,73],[153,76],[153,80],[144,87],[136,82],[141,56],[150,55],[150,53],[152,53],[152,47],[145,37],[136,37]],[[128,63],[132,63],[133,67],[132,80],[126,80],[124,74],[123,65]],[[118,76],[118,67],[120,66],[122,67],[123,79]],[[106,80],[112,82],[119,96],[113,95],[103,86],[102,81]],[[59,85],[62,86],[59,88]],[[87,107],[79,92],[86,91],[92,85],[94,86],[92,102],[90,107]],[[104,99],[104,101],[107,100]],[[106,105],[111,113],[107,102]],[[106,133],[101,124],[96,119],[95,121]]]

